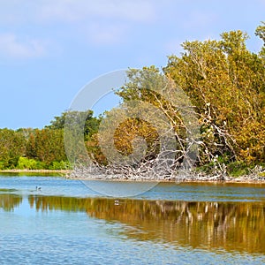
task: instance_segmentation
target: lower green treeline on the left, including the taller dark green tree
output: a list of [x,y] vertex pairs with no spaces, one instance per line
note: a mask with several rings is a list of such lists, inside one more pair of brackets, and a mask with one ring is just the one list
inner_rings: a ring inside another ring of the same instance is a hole
[[[93,111],[72,111],[72,118],[86,116],[85,137],[95,133],[99,119]],[[43,129],[0,129],[0,170],[64,170],[71,168],[64,150],[66,112]]]

